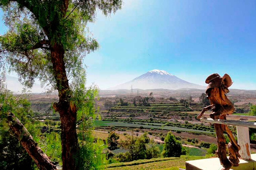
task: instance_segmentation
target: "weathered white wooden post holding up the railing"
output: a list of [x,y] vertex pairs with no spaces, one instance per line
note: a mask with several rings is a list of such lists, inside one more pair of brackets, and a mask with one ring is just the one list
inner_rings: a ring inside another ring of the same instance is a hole
[[241,149],[239,150],[241,159],[252,160],[251,151],[250,151],[249,128],[237,126],[236,130],[237,130],[237,141],[241,147]]

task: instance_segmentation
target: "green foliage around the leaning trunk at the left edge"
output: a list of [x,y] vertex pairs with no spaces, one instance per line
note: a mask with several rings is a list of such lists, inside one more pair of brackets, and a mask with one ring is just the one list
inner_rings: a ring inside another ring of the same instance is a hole
[[[25,90],[23,90],[25,92]],[[33,113],[30,103],[24,94],[13,96],[12,92],[5,88],[5,71],[0,76],[0,169],[35,169],[35,163],[21,146],[19,140],[9,131],[7,115],[12,112],[20,119],[33,137],[38,130],[33,126],[35,121],[31,119]]]

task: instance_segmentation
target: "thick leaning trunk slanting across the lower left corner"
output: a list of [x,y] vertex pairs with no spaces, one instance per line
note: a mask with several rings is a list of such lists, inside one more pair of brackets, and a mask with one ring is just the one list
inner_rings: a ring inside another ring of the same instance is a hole
[[[14,136],[17,137],[21,145],[25,148],[29,156],[35,161],[40,170],[56,170],[50,158],[43,153],[37,143],[33,140],[28,130],[23,126],[20,120],[12,113],[8,114],[8,124]],[[18,168],[18,167],[17,167]]]

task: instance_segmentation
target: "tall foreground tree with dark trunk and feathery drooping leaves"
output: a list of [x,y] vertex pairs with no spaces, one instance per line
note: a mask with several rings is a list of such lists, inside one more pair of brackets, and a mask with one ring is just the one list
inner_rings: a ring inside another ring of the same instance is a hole
[[[53,108],[60,114],[62,169],[76,170],[78,159],[82,158],[79,154],[89,146],[84,143],[88,133],[76,133],[77,120],[83,122],[94,117],[93,107],[83,113],[88,106],[86,103],[90,101],[91,104],[96,95],[95,88],[88,90],[85,87],[83,57],[99,45],[93,38],[85,36],[85,27],[94,21],[97,8],[108,15],[120,9],[122,1],[0,0],[0,5],[9,27],[9,31],[0,37],[1,59],[27,87],[32,87],[35,78],[39,78],[51,85],[50,91],[58,91],[59,101]],[[12,120],[17,123],[15,117]],[[88,126],[82,122],[79,127],[87,131],[92,127],[90,121]],[[38,162],[37,157],[30,156]],[[87,162],[79,162],[79,166]]]

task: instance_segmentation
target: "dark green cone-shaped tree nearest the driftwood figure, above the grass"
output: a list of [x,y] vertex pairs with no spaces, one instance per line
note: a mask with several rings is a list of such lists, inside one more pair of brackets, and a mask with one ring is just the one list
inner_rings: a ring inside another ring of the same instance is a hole
[[178,141],[175,136],[168,132],[164,139],[164,157],[180,157],[182,152],[182,144]]

